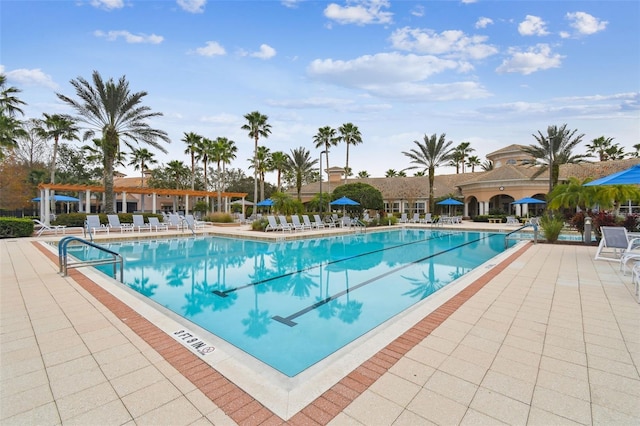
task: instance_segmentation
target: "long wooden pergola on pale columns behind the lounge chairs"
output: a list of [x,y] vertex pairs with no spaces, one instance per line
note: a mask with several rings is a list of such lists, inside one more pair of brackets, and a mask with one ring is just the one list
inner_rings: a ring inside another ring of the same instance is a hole
[[[78,192],[80,196],[80,208],[81,212],[90,212],[91,211],[91,193],[92,192],[104,192],[104,186],[98,185],[76,185],[76,184],[51,184],[51,183],[41,183],[38,185],[38,189],[40,190],[40,220],[47,225],[50,225],[50,217],[49,217],[49,204],[52,200],[51,191],[74,191]],[[82,197],[82,193],[84,192],[85,196]],[[217,197],[218,192],[212,191],[196,191],[192,189],[167,189],[167,188],[140,188],[140,187],[130,187],[130,186],[114,186],[114,193],[122,194],[122,213],[126,213],[127,208],[127,194],[140,194],[140,195],[152,195],[152,206],[151,212],[157,212],[156,200],[158,195],[174,195],[181,196],[185,199],[185,210],[189,211],[189,197],[204,197],[209,199],[209,197]],[[246,192],[221,192],[220,195],[225,198],[244,198],[248,195]],[[84,198],[84,203],[83,203]],[[242,213],[244,214],[244,203],[242,205]]]

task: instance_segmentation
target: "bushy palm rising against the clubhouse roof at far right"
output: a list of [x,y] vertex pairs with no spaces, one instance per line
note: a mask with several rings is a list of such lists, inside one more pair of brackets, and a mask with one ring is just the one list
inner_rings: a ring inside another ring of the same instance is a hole
[[549,192],[558,184],[560,176],[560,165],[570,163],[581,163],[588,157],[586,154],[574,155],[573,149],[582,141],[584,134],[576,135],[577,130],[567,129],[567,125],[560,127],[547,127],[547,134],[543,135],[538,131],[538,135],[533,137],[538,141],[538,145],[523,147],[523,151],[531,155],[536,163],[542,165],[540,170],[533,174],[533,178],[540,176],[549,170]]

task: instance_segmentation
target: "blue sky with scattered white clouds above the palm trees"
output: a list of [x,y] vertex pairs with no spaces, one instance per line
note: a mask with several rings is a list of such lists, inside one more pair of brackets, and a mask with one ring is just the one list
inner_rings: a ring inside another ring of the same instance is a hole
[[[382,177],[432,134],[481,160],[562,124],[584,134],[578,153],[600,136],[632,151],[638,22],[636,0],[2,0],[0,72],[25,118],[72,114],[56,93],[75,97],[73,79],[125,76],[163,114],[150,122],[171,138],[159,164],[190,166],[181,139],[195,132],[234,141],[230,167],[252,176],[241,127],[259,111],[272,126],[260,145],[312,158],[320,127],[353,123],[349,167]],[[329,162],[345,165],[345,144]]]

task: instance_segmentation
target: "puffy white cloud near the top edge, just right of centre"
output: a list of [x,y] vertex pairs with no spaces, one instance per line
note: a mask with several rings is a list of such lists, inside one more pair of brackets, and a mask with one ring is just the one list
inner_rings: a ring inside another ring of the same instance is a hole
[[393,13],[385,12],[389,8],[388,0],[351,0],[347,6],[331,3],[324,10],[324,16],[340,24],[388,24],[392,22]]

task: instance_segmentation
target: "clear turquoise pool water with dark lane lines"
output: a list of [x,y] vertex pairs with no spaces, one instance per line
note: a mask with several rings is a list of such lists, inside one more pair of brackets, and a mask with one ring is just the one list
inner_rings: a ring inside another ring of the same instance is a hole
[[[123,255],[130,288],[293,377],[504,251],[504,234],[399,229],[104,245]],[[70,253],[100,256],[89,247]]]

